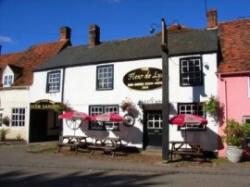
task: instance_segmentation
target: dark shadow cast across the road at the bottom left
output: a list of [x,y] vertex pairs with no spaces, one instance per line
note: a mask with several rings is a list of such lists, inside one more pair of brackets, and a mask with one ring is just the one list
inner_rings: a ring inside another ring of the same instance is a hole
[[[54,175],[54,177],[53,177]],[[55,173],[31,174],[24,171],[6,172],[0,175],[0,186],[157,186],[160,182],[151,182],[161,174],[112,174],[109,172],[73,172],[55,176]],[[165,185],[167,185],[165,183]]]

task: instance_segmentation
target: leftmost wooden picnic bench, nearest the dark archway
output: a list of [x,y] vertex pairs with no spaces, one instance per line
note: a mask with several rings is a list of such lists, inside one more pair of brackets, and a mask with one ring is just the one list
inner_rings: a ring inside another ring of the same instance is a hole
[[60,136],[57,144],[58,152],[61,151],[62,147],[70,147],[71,150],[75,150],[76,153],[79,148],[87,147],[86,136]]

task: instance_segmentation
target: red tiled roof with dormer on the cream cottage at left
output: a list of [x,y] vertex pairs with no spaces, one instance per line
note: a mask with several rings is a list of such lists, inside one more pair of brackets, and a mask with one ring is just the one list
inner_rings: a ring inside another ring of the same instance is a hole
[[33,70],[67,45],[67,41],[38,44],[23,52],[0,56],[0,87],[2,86],[2,72],[7,65],[22,69],[22,75],[17,77],[13,86],[29,86],[33,81]]

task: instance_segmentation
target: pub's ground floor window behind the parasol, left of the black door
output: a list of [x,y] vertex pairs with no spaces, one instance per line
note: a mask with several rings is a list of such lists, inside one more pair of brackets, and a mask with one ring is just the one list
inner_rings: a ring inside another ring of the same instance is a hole
[[[89,115],[99,115],[107,112],[119,113],[119,105],[90,105]],[[113,128],[113,130],[119,129],[119,123],[115,122],[90,122],[89,130],[106,130]]]

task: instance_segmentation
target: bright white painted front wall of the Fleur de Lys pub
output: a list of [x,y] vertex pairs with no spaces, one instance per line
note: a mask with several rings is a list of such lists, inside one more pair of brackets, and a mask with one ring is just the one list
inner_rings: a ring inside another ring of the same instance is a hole
[[[217,96],[217,55],[215,53],[201,55],[203,60],[204,86],[200,87],[180,87],[179,59],[181,57],[171,57],[169,59],[169,95],[170,102],[176,110],[178,102],[203,102],[208,100],[211,95]],[[161,69],[162,59],[147,59],[109,64],[114,64],[114,89],[107,91],[96,91],[96,67],[98,65],[66,68],[64,102],[75,110],[88,113],[89,105],[116,105],[121,104],[122,100],[126,98],[131,99],[135,104],[137,104],[139,100],[161,101],[161,88],[151,91],[133,90],[124,85],[123,77],[129,71],[137,68],[155,67]],[[60,101],[61,93],[46,94],[46,76],[47,71],[34,73],[34,84],[31,88],[31,102],[40,99]],[[140,110],[139,107],[138,110]],[[120,114],[123,113],[121,112]],[[174,113],[172,113],[172,115],[173,114]],[[87,128],[87,124],[83,124],[75,133],[78,136],[87,135],[93,138],[99,136],[119,136],[124,139],[128,145],[141,148],[143,135],[143,124],[141,123],[142,118],[143,113],[140,110],[140,115],[136,119],[134,127],[129,128],[121,125],[120,131],[113,132],[112,135],[104,131],[90,131]],[[218,126],[212,118],[208,117],[208,120],[209,124],[207,131],[188,132],[188,138],[190,141],[198,140],[201,142],[205,150],[215,150],[217,148],[216,136]],[[64,124],[63,134],[73,135],[73,133],[74,132]],[[183,140],[183,136],[182,132],[177,131],[176,126],[170,126],[170,140]]]

